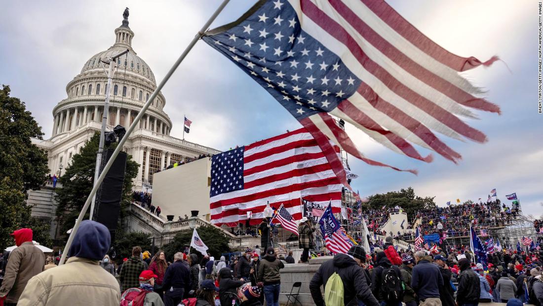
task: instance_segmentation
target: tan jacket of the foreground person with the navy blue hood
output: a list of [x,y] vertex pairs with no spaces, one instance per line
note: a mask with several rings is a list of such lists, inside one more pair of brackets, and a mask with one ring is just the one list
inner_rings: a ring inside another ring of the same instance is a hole
[[98,261],[72,257],[66,264],[36,275],[19,304],[24,306],[118,306],[119,283]]

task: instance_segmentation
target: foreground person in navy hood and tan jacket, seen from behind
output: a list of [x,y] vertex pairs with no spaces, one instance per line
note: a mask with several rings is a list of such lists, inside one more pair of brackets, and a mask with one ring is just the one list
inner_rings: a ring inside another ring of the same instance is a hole
[[82,221],[68,250],[70,258],[66,264],[31,278],[18,305],[119,305],[119,283],[98,265],[109,251],[110,242],[107,227],[95,221]]

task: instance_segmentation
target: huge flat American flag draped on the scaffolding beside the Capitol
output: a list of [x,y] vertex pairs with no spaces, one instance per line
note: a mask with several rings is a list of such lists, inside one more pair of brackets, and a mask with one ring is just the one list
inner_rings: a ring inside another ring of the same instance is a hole
[[268,202],[300,220],[300,197],[323,206],[331,200],[339,213],[341,190],[317,141],[301,128],[213,155],[211,222],[235,226],[251,211],[250,224],[258,224]]

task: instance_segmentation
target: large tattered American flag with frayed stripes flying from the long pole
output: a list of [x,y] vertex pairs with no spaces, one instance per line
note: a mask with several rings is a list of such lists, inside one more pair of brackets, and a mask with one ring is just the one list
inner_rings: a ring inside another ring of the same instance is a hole
[[460,154],[435,133],[484,142],[459,116],[476,117],[469,108],[500,113],[458,73],[496,58],[481,63],[446,51],[382,0],[262,0],[203,40],[311,132],[342,183],[326,136],[368,164],[386,165],[359,152],[332,116],[397,153],[430,162],[413,143],[456,163]]

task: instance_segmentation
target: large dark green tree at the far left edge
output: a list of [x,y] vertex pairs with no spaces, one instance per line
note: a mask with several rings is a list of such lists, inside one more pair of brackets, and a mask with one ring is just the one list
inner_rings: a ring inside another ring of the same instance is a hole
[[10,97],[9,86],[0,90],[0,249],[14,245],[14,230],[33,229],[34,240],[50,245],[49,224],[31,217],[28,190],[45,183],[47,153],[31,142],[43,139],[41,127],[20,99]]

